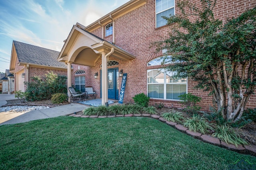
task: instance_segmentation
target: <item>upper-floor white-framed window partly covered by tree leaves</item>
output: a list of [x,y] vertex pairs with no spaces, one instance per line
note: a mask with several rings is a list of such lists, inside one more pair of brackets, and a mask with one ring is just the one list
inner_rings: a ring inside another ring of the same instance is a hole
[[167,21],[162,16],[174,15],[174,0],[156,0],[156,27],[166,25]]

